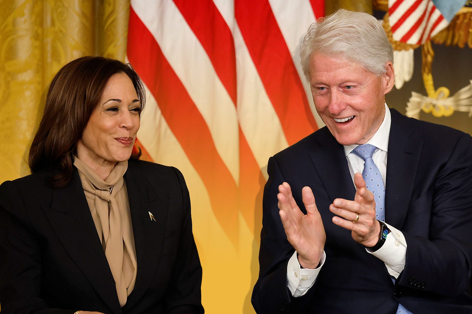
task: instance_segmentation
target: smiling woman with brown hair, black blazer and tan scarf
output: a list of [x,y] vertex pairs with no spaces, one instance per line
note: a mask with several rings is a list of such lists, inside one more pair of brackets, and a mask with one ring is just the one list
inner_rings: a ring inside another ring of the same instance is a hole
[[118,60],[56,74],[33,174],[0,185],[2,314],[203,313],[184,178],[132,155],[144,103]]

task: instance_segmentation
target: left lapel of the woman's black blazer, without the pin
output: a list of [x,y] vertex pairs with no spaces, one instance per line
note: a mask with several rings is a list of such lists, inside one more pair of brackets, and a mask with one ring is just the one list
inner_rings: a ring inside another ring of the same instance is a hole
[[64,249],[103,301],[113,313],[122,313],[115,281],[77,171],[67,186],[54,189],[51,207],[42,206],[42,210]]

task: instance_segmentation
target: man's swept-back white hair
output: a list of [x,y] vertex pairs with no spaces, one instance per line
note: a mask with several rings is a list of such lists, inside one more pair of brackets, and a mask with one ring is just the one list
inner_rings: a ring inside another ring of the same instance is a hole
[[393,48],[380,22],[367,13],[344,9],[319,18],[308,28],[300,44],[301,64],[307,81],[310,81],[310,61],[314,52],[341,54],[376,75],[386,73],[388,61],[393,64]]

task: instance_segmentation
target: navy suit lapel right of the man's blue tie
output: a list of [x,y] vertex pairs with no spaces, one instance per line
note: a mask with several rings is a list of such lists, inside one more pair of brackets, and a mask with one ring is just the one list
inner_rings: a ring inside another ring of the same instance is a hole
[[390,110],[392,124],[388,140],[385,221],[401,229],[413,191],[423,141],[395,110]]

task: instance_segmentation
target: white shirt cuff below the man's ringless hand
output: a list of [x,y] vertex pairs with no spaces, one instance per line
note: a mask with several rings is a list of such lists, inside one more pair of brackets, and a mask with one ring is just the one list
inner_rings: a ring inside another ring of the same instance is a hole
[[325,260],[326,254],[323,250],[318,268],[302,268],[298,263],[297,252],[294,252],[287,264],[287,287],[292,296],[301,297],[313,286]]

